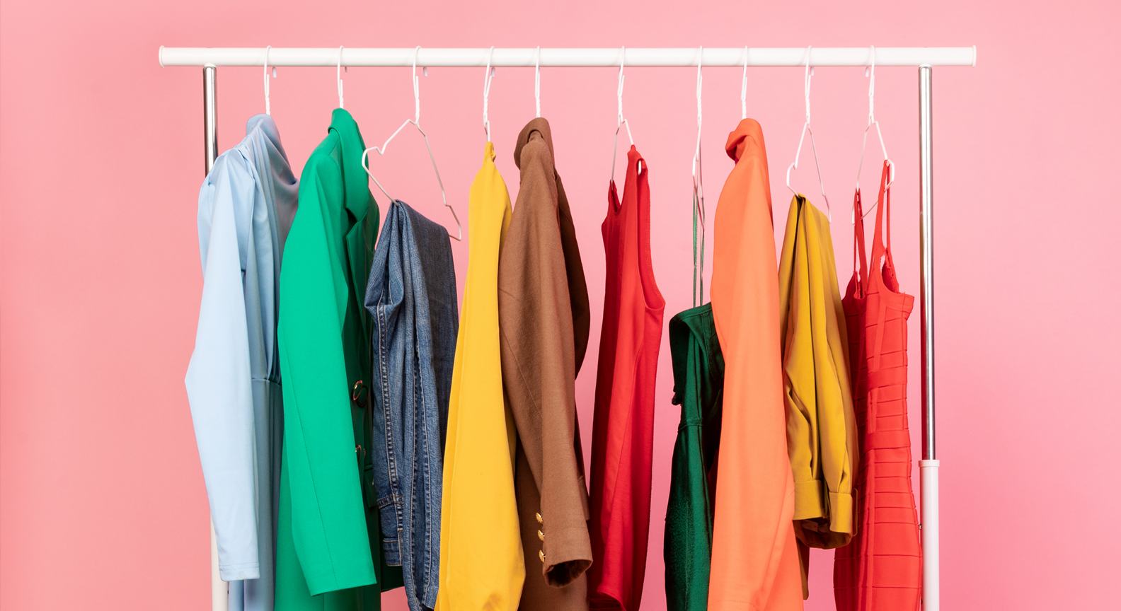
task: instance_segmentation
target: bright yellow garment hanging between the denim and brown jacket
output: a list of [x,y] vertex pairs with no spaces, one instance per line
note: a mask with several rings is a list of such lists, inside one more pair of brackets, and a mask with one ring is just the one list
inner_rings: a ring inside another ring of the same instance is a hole
[[471,240],[444,447],[436,611],[518,608],[526,578],[513,497],[513,416],[502,396],[498,260],[510,194],[487,142],[471,184]]

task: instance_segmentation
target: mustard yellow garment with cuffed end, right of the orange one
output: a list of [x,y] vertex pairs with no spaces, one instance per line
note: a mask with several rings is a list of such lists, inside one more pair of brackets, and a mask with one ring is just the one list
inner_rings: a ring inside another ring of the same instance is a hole
[[802,195],[787,216],[779,312],[795,533],[808,547],[840,547],[855,528],[859,456],[849,339],[830,222]]

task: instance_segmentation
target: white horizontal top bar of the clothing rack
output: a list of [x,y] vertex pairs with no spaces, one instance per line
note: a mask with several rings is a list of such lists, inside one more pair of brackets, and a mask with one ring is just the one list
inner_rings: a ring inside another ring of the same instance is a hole
[[[359,48],[345,47],[344,66],[413,66],[415,48]],[[416,55],[421,67],[485,67],[491,53],[487,48],[429,48]],[[626,53],[628,67],[704,67],[736,66],[744,62],[753,67],[805,66],[805,47],[705,47],[691,48],[541,48],[543,67],[611,67],[619,66]],[[814,47],[809,63],[813,66],[867,66],[876,53],[876,66],[973,66],[976,47]],[[703,56],[702,56],[703,54]],[[339,47],[298,48],[272,47],[268,56],[270,66],[331,66],[339,62]],[[498,67],[534,67],[536,47],[495,48],[490,61]],[[160,47],[161,66],[262,66],[265,48],[257,47]]]

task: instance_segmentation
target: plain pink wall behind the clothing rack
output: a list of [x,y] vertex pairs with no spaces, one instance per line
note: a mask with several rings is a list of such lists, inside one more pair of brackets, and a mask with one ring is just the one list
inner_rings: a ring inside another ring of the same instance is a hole
[[[936,68],[938,454],[946,609],[1115,608],[1121,502],[1115,346],[1121,221],[1119,11],[1110,2],[0,2],[0,607],[206,609],[207,507],[183,377],[202,275],[200,68],[160,68],[167,46],[954,46],[975,68]],[[703,6],[702,6],[703,4]],[[782,4],[782,7],[779,7]],[[925,6],[924,6],[925,4]],[[406,68],[344,74],[346,108],[380,144],[413,99]],[[450,201],[467,217],[483,148],[482,70],[421,78],[421,124]],[[819,68],[814,126],[834,209],[841,281],[867,86]],[[651,239],[666,320],[691,304],[689,160],[695,71],[628,70],[624,111],[650,166]],[[274,117],[298,172],[336,105],[334,70],[280,68]],[[534,113],[532,71],[491,91],[498,166]],[[749,71],[763,126],[776,233],[803,120],[797,68]],[[896,261],[918,293],[917,80],[878,71],[877,117],[898,163]],[[710,68],[704,157],[710,215],[731,168],[740,71]],[[600,222],[615,71],[549,68],[553,124],[591,288],[592,350],[577,381],[591,423],[603,296]],[[263,111],[260,68],[220,68],[220,147]],[[864,183],[876,180],[870,146]],[[804,159],[807,159],[804,157]],[[795,184],[816,195],[810,167]],[[376,160],[386,183],[439,222],[451,215],[420,140]],[[871,168],[871,169],[869,169]],[[383,197],[378,194],[378,198]],[[383,210],[382,210],[383,212]],[[711,217],[711,216],[710,216]],[[466,229],[466,228],[465,228]],[[781,244],[778,244],[779,247]],[[466,243],[454,244],[457,276]],[[711,261],[711,242],[710,257]],[[918,312],[911,431],[918,459]],[[679,417],[668,342],[658,378],[647,609],[664,609],[661,540]],[[590,442],[591,434],[585,434]],[[915,485],[918,485],[916,469]],[[807,609],[831,609],[832,555],[816,553]],[[387,609],[405,609],[399,593]],[[1110,603],[1109,601],[1114,601]]]

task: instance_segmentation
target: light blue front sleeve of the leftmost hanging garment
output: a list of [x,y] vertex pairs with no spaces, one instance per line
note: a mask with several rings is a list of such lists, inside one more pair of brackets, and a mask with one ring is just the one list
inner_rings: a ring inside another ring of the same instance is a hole
[[[232,151],[231,151],[232,152]],[[252,209],[254,179],[240,155],[220,157],[198,194],[203,295],[187,399],[224,581],[260,577],[253,396],[244,253],[237,216]]]

